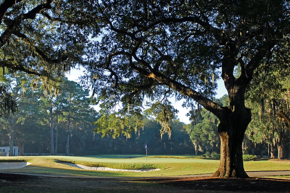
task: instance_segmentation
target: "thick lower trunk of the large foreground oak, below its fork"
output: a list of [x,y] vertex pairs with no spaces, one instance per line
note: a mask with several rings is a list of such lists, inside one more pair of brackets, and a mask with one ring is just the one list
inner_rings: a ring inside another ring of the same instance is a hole
[[251,121],[250,109],[229,111],[220,119],[218,126],[221,138],[221,159],[218,170],[213,177],[248,177],[243,167],[243,138]]

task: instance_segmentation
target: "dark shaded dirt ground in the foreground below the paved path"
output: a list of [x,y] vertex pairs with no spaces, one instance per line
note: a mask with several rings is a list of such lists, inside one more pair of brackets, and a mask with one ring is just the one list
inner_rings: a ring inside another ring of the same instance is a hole
[[0,192],[290,192],[270,178],[67,178],[0,173]]

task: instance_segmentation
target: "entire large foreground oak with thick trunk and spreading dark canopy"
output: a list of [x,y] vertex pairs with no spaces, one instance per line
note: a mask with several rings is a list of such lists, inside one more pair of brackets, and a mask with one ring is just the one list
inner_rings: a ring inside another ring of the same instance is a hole
[[[220,122],[221,160],[213,176],[247,177],[242,142],[251,110],[244,96],[256,69],[267,68],[264,60],[286,41],[289,1],[104,0],[92,6],[100,33],[86,69],[102,107],[121,104],[119,112],[130,116],[144,100],[160,102],[164,108],[158,112],[170,132],[168,98],[185,98],[188,107],[195,100]],[[240,76],[234,76],[236,67]],[[228,106],[211,100],[219,76]]]

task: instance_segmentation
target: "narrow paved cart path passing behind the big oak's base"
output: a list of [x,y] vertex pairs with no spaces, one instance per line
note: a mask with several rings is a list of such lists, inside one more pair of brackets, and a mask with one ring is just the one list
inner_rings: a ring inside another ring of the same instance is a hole
[[[33,174],[33,173],[15,173],[15,172],[0,172],[7,174],[23,174],[23,175],[31,175],[31,176],[42,176],[42,177],[65,177],[65,178],[110,178],[110,179],[118,179],[118,178],[191,178],[191,177],[210,177],[213,174],[195,174],[195,175],[184,175],[184,176],[159,176],[159,177],[89,177],[89,176],[61,176],[61,175],[53,175],[53,174]],[[279,175],[290,175],[290,171],[249,171],[247,172],[249,177],[261,177],[261,176],[279,176]]]

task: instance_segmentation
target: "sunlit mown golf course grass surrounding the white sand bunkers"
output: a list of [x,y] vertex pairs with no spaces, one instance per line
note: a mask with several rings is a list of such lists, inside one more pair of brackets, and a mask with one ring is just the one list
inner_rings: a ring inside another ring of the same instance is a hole
[[[208,174],[214,173],[219,166],[219,160],[200,159],[192,156],[148,156],[147,158],[137,157],[129,159],[71,156],[18,156],[0,158],[0,162],[8,161],[26,161],[32,164],[24,168],[0,171],[98,177],[160,177]],[[140,173],[92,171],[61,164],[62,162],[115,169],[159,168],[160,170]],[[290,170],[290,162],[271,160],[244,162],[244,168],[246,171],[286,171]]]

